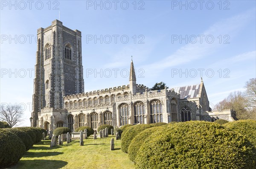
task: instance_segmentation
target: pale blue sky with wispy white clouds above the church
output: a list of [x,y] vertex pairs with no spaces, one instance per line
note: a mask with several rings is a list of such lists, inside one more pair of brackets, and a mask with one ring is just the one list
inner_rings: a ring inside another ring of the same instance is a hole
[[85,91],[127,85],[131,55],[137,84],[202,76],[210,104],[256,77],[254,0],[1,1],[0,102],[26,105],[21,126],[30,125],[37,29],[59,17],[82,32]]

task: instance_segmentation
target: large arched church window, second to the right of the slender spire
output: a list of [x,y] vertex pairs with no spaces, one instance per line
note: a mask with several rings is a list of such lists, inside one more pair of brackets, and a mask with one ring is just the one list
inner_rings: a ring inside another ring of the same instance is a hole
[[150,102],[150,121],[151,123],[163,122],[163,104],[160,100]]

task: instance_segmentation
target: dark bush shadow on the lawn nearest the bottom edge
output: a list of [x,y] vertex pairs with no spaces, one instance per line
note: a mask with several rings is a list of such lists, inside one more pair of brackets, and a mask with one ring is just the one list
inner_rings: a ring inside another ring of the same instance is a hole
[[11,169],[59,169],[66,165],[66,161],[60,160],[20,160]]

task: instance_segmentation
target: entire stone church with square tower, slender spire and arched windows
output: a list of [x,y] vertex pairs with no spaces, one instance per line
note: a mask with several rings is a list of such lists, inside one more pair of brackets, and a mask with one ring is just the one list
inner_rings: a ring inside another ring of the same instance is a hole
[[163,90],[138,85],[131,60],[129,84],[84,92],[81,31],[59,20],[38,29],[32,126],[45,130],[102,124],[151,124],[157,122],[216,119],[233,121],[233,110],[213,111],[204,82]]

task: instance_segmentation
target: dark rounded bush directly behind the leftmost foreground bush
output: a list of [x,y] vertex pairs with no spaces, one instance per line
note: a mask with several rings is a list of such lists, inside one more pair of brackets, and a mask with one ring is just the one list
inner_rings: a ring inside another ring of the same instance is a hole
[[33,140],[26,132],[19,130],[18,128],[6,128],[5,130],[17,135],[26,146],[26,151],[28,151],[33,146]]

